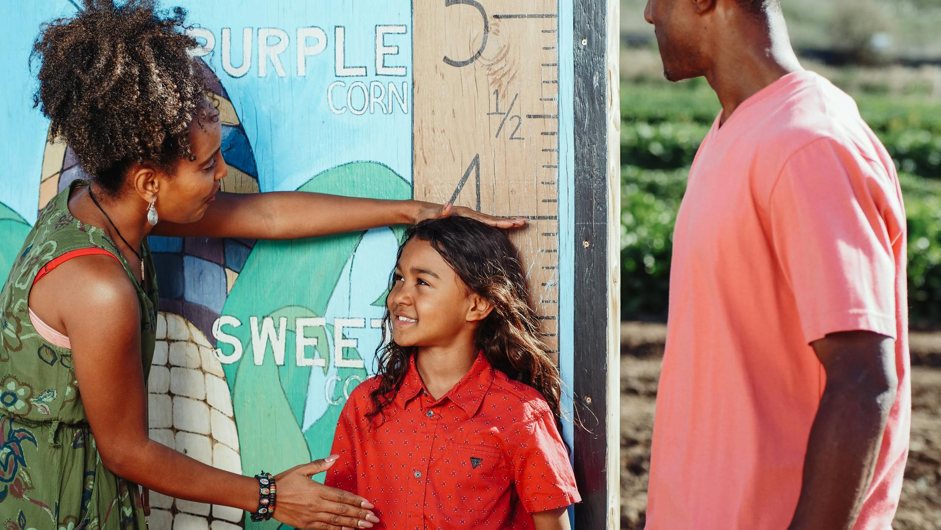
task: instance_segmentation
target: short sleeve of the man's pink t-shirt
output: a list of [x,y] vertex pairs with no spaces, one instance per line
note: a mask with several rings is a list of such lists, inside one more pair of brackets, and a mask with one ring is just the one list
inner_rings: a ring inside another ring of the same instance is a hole
[[789,157],[768,210],[807,343],[851,330],[896,338],[893,246],[904,212],[885,167],[818,139]]

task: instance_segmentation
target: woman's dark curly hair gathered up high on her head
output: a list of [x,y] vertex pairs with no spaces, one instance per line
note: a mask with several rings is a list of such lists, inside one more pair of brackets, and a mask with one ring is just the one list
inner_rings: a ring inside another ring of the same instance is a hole
[[152,0],[84,0],[74,17],[43,24],[30,66],[40,61],[34,106],[79,164],[111,194],[132,164],[172,169],[191,155],[188,130],[206,81],[187,53],[183,8]]

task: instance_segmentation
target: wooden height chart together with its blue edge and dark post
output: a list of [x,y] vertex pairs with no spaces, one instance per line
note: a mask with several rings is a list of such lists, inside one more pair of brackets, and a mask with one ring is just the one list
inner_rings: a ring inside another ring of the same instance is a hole
[[511,237],[584,424],[566,430],[580,529],[619,523],[616,17],[609,0],[412,7],[414,196],[530,219]]

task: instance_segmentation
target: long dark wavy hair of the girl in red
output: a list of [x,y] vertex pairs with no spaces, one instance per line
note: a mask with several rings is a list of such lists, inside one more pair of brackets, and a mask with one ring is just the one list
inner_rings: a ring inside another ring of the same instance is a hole
[[[539,339],[539,319],[510,239],[500,229],[470,217],[426,219],[408,230],[399,258],[407,242],[416,238],[438,250],[467,288],[493,306],[474,336],[476,348],[494,368],[539,391],[560,420],[559,369]],[[388,304],[382,329],[382,345],[376,350],[379,384],[370,393],[373,408],[366,414],[370,419],[390,405],[405,380],[408,360],[417,350],[395,344]]]

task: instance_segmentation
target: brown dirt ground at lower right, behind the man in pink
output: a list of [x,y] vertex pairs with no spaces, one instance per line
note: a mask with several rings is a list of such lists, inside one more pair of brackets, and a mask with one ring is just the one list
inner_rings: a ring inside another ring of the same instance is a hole
[[[621,528],[641,530],[654,402],[660,377],[660,325],[621,329]],[[912,444],[895,530],[941,529],[941,334],[913,334]]]

